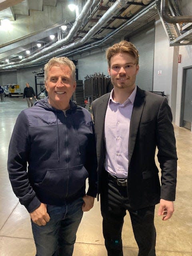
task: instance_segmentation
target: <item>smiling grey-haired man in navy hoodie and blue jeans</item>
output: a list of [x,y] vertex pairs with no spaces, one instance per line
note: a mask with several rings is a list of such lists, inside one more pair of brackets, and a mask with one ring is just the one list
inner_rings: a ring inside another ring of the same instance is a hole
[[94,128],[90,113],[70,100],[76,89],[74,63],[52,58],[44,71],[48,97],[19,114],[8,173],[30,214],[36,256],[72,256],[82,214],[97,194]]

